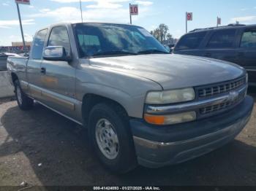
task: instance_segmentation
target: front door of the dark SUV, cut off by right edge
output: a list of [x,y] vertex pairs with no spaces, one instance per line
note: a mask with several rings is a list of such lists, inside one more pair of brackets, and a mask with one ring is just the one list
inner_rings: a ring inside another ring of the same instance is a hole
[[256,86],[256,27],[242,31],[237,58],[249,74],[249,84]]

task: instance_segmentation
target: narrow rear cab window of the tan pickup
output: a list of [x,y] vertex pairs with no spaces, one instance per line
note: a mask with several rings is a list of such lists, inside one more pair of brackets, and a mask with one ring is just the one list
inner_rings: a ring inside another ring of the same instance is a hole
[[31,53],[31,58],[36,60],[42,59],[42,50],[45,44],[45,37],[47,35],[48,29],[37,32],[34,36],[33,50]]

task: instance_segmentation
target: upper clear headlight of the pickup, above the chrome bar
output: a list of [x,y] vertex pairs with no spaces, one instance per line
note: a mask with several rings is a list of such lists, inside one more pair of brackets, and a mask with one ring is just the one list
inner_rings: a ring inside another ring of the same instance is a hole
[[146,96],[146,104],[173,104],[195,99],[195,91],[192,87],[180,90],[167,90],[150,92]]

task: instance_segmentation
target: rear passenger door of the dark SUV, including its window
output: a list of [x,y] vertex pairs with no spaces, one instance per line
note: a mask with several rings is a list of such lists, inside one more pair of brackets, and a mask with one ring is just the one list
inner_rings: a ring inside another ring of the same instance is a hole
[[236,62],[236,28],[218,29],[211,32],[204,45],[204,57]]

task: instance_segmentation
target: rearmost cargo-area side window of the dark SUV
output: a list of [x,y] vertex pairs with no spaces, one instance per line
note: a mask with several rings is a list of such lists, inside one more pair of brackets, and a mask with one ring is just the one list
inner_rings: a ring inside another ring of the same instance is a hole
[[205,36],[206,32],[187,34],[178,41],[176,50],[197,49]]

